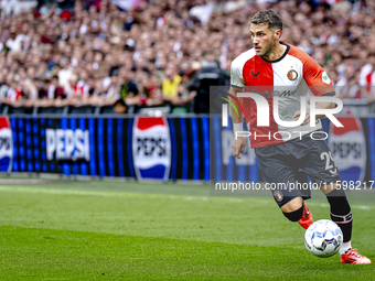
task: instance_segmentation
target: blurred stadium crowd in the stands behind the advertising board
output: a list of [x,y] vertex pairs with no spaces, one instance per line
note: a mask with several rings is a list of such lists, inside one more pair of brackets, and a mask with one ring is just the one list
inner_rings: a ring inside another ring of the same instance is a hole
[[225,85],[231,62],[253,46],[249,18],[267,7],[283,19],[282,40],[324,66],[340,97],[375,100],[366,87],[375,85],[375,1],[150,0],[127,10],[117,2],[2,14],[0,101],[205,111],[194,73],[221,68]]

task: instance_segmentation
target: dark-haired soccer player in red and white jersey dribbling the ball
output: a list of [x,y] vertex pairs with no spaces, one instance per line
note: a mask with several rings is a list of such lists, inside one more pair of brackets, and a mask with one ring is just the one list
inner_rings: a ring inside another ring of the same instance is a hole
[[[262,174],[268,183],[275,184],[307,183],[309,175],[325,194],[331,206],[331,219],[342,229],[341,262],[371,263],[368,258],[351,247],[351,207],[345,192],[340,188],[341,177],[324,141],[325,136],[315,132],[321,131],[320,118],[325,115],[317,115],[315,127],[310,127],[310,109],[307,109],[301,125],[293,128],[280,126],[274,117],[274,101],[278,101],[281,120],[300,120],[303,118],[300,97],[306,97],[309,90],[318,97],[333,96],[335,91],[332,83],[323,68],[307,53],[279,41],[282,20],[274,10],[259,11],[250,23],[254,47],[233,61],[229,91],[233,96],[238,96],[240,91],[259,94],[268,101],[268,106],[262,105],[259,110],[269,112],[269,126],[262,127],[257,126],[259,112],[256,101],[253,98],[237,98],[244,108],[246,123],[249,123],[250,145],[255,148]],[[319,101],[315,106],[319,109],[332,109],[335,104]],[[243,131],[243,114],[237,107],[238,114],[232,112],[235,132]],[[235,137],[233,155],[239,159],[245,147],[245,137]],[[286,187],[274,190],[272,194],[289,220],[298,221],[306,229],[313,223],[304,203],[304,199],[310,198],[310,190]]]

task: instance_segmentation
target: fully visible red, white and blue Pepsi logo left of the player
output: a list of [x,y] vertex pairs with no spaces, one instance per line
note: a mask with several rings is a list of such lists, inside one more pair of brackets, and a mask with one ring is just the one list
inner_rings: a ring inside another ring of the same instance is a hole
[[138,180],[169,179],[171,138],[164,117],[136,117],[132,155]]

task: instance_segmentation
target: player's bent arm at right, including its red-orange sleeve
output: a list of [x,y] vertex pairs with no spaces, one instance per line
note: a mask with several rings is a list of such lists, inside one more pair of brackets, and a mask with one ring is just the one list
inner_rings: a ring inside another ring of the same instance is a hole
[[[308,56],[303,62],[303,78],[314,96],[322,97],[335,95],[335,90],[330,77],[324,72],[324,69],[310,56]],[[334,107],[335,104],[332,101],[318,101],[315,104],[317,109],[332,109]],[[300,114],[300,111],[297,111],[294,114],[294,119],[299,119]],[[321,119],[325,115],[317,115],[315,118]],[[302,126],[309,122],[310,110],[307,110],[307,115],[302,122]]]

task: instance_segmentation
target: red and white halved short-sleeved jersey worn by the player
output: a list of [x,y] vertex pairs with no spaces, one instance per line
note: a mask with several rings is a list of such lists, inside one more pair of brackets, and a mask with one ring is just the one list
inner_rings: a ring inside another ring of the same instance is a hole
[[255,50],[250,48],[232,63],[231,85],[244,93],[261,95],[269,106],[269,127],[257,127],[256,104],[253,98],[244,98],[243,107],[251,133],[251,148],[281,143],[322,129],[320,120],[315,127],[310,127],[310,123],[293,128],[279,126],[274,118],[275,96],[279,98],[279,118],[296,121],[293,116],[300,110],[301,96],[307,96],[310,91],[314,96],[335,94],[331,79],[311,56],[296,46],[280,43],[287,46],[287,51],[276,61],[257,56]]

